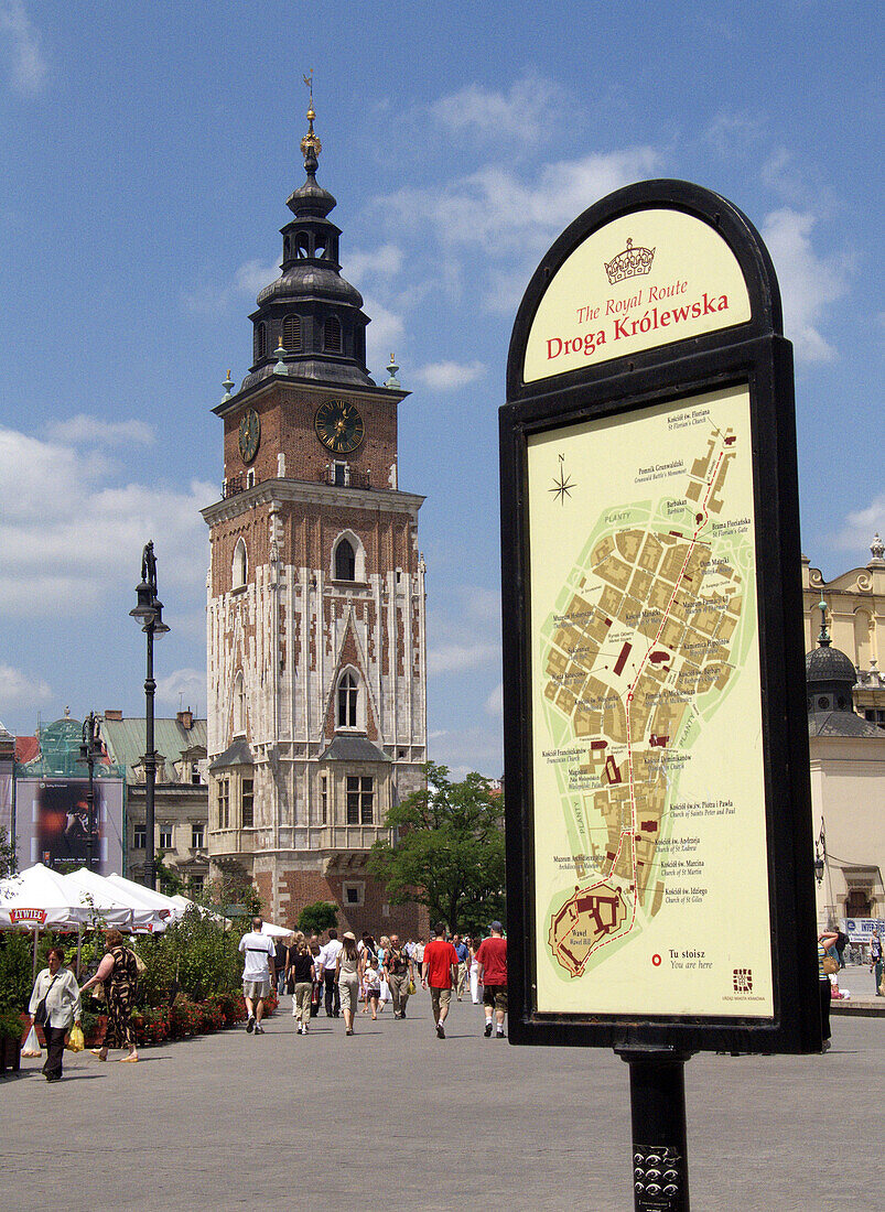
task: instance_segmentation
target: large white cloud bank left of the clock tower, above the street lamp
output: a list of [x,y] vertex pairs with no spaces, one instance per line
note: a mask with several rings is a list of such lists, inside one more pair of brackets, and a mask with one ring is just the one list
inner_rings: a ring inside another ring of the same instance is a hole
[[196,480],[108,485],[107,478],[101,457],[0,429],[0,611],[70,616],[121,594],[129,600],[149,538],[167,613],[170,589],[202,587],[209,532],[199,510],[217,488]]

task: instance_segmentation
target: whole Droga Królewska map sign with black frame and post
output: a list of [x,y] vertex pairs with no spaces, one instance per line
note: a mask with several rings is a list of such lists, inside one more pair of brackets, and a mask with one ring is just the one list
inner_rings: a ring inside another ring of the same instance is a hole
[[628,1062],[636,1208],[687,1210],[684,1065],[821,1050],[792,347],[686,182],[577,218],[499,415],[513,1044]]

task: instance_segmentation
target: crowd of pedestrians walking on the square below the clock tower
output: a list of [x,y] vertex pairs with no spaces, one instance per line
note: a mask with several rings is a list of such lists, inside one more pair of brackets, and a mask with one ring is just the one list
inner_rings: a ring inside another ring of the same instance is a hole
[[242,994],[246,1001],[246,1031],[264,1031],[264,999],[272,989],[291,994],[292,1017],[298,1035],[307,1035],[310,1021],[322,1010],[327,1018],[343,1018],[344,1034],[353,1035],[356,1016],[376,1021],[389,1004],[393,1017],[405,1018],[409,999],[418,984],[429,989],[433,1022],[439,1039],[445,1039],[452,994],[458,1001],[468,995],[485,1007],[485,1035],[504,1037],[507,1017],[507,941],[499,921],[491,922],[487,938],[449,938],[445,922],[434,926],[434,937],[400,942],[398,934],[382,934],[376,943],[366,932],[360,939],[353,931],[329,930],[327,941],[302,932],[275,943],[262,933],[262,919],[252,919],[252,930],[240,939],[244,957]]

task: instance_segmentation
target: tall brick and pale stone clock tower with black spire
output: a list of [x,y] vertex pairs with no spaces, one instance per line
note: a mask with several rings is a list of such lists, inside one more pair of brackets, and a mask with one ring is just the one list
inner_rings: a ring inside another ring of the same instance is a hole
[[[364,928],[417,930],[365,862],[427,759],[423,497],[396,474],[409,393],[366,370],[362,297],[341,275],[335,198],[287,199],[281,274],[258,295],[253,362],[225,382],[222,499],[207,579],[209,850],[284,925],[335,901]],[[339,921],[342,919],[339,917]]]

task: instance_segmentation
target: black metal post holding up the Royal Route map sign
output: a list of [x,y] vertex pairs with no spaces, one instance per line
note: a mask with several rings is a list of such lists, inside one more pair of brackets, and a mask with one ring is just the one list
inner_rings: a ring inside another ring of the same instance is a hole
[[615,1048],[630,1067],[635,1212],[689,1212],[685,1062],[672,1048]]

